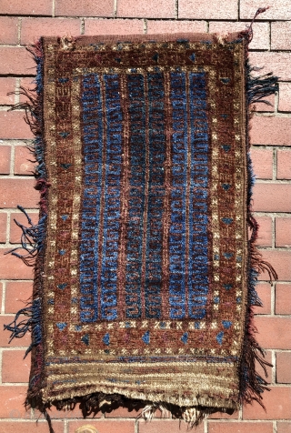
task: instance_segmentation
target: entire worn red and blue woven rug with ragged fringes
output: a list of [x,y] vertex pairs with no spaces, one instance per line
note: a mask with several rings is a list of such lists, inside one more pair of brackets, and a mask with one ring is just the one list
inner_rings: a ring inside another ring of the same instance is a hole
[[[192,424],[260,400],[249,32],[57,38],[36,45],[40,221],[27,401],[141,405]],[[248,239],[248,227],[251,237]],[[14,252],[15,255],[21,256]],[[36,402],[36,403],[34,403]]]

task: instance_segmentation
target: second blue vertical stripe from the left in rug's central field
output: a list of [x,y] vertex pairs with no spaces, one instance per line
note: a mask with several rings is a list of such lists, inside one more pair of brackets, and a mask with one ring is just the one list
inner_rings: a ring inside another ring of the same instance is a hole
[[117,267],[122,168],[120,77],[105,75],[105,205],[101,268],[101,318],[117,318]]

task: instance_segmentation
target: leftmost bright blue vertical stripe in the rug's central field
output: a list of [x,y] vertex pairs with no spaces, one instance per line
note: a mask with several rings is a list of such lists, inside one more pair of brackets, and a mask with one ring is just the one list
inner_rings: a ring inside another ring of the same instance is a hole
[[98,317],[98,235],[102,181],[102,101],[97,75],[83,80],[84,192],[80,243],[80,320]]

